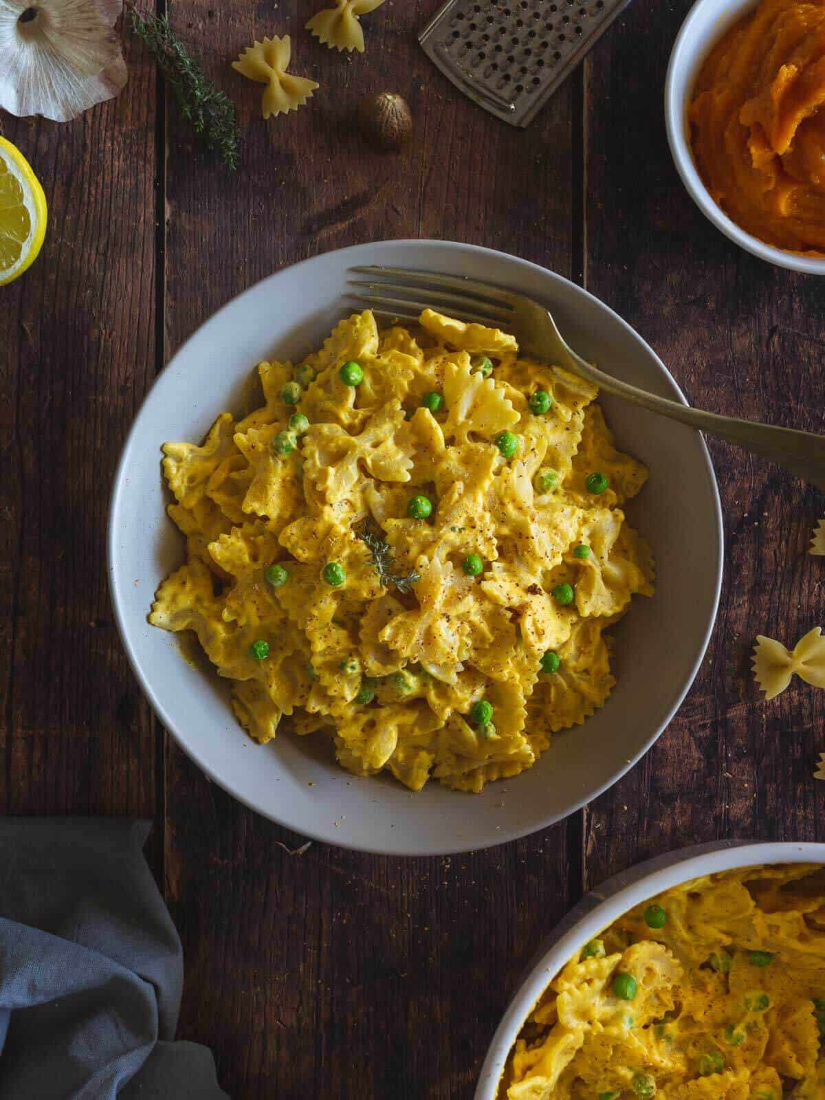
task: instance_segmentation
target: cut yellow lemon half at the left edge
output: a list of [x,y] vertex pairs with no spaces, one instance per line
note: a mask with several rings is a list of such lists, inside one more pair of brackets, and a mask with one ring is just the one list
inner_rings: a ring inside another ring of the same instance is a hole
[[32,167],[0,138],[0,286],[22,275],[37,258],[46,235],[46,196]]

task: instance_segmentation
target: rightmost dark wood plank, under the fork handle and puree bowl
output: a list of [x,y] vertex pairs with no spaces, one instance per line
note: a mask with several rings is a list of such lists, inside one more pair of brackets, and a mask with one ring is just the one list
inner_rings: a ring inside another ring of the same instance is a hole
[[[822,432],[818,283],[727,241],[671,161],[662,89],[689,8],[636,0],[586,62],[586,285],[651,343],[693,404]],[[711,450],[727,541],[716,630],[676,719],[591,806],[588,886],[693,843],[823,836],[825,787],[812,778],[825,749],[822,692],[794,681],[766,703],[749,661],[757,634],[792,646],[822,625],[825,574],[806,553],[822,497],[727,444]]]

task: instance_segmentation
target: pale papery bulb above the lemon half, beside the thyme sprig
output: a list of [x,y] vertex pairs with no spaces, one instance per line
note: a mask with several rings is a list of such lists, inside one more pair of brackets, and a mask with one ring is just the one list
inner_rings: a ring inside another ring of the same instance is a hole
[[67,122],[127,82],[122,0],[0,0],[0,107]]

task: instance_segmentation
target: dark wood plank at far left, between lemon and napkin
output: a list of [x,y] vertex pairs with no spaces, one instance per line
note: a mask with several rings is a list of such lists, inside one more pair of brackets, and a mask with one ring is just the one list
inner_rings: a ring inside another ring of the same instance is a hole
[[[2,117],[50,202],[0,292],[0,807],[152,815],[148,708],[109,603],[114,464],[155,371],[153,68],[74,122]],[[160,850],[160,848],[158,848]]]

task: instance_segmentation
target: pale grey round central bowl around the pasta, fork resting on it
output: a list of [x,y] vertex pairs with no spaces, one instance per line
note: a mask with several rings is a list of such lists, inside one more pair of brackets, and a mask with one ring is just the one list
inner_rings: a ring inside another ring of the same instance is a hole
[[483,277],[526,292],[553,310],[583,355],[646,389],[682,394],[625,322],[566,279],[486,249],[447,241],[388,241],[316,256],[242,294],[204,324],[161,374],[118,469],[109,522],[109,569],[118,625],[132,667],[161,721],[216,782],[305,836],[395,855],[466,851],[550,825],[614,783],[670,722],[696,672],[713,626],[722,573],[716,483],[698,433],[609,397],[619,446],[650,468],[629,508],[652,544],[658,591],[637,597],[618,625],[617,686],[607,705],[529,771],[479,795],[436,782],[413,794],[388,777],[355,779],[324,737],[283,732],[254,744],[234,719],[226,682],[187,664],[174,635],[146,614],[160,582],[184,560],[164,513],[165,440],[200,440],[223,409],[243,407],[258,360],[295,359],[320,345],[340,316],[346,270],[394,264]]

